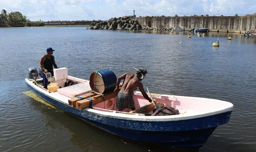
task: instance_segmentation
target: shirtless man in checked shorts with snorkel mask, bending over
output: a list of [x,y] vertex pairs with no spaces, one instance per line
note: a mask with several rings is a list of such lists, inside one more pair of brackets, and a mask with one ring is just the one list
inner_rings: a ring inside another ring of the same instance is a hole
[[[123,109],[126,108],[135,110],[135,103],[132,94],[133,90],[137,87],[139,87],[139,90],[142,93],[143,97],[147,99],[150,103],[152,102],[152,100],[145,92],[142,83],[140,82],[142,79],[144,79],[146,74],[147,70],[139,69],[136,74],[127,72],[117,78],[117,86],[115,92],[118,92],[116,101],[116,108],[118,108],[118,111],[123,111]],[[119,84],[122,79],[124,79],[123,85],[121,89],[119,89]]]

